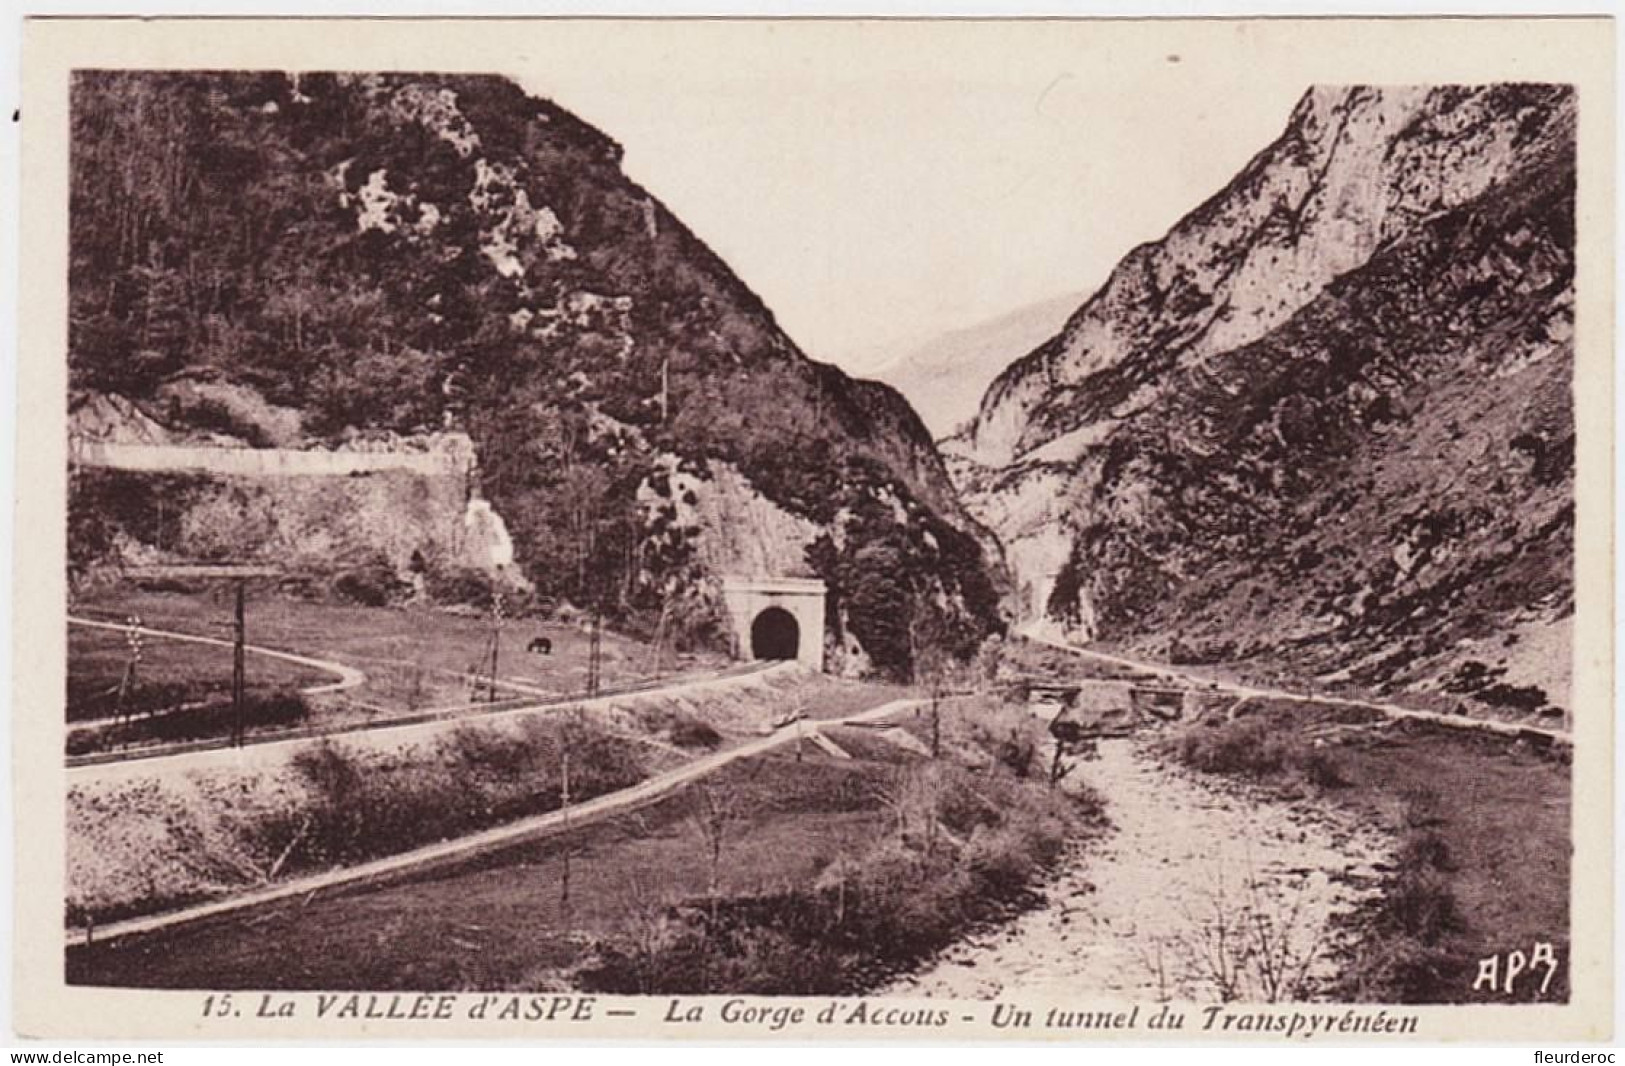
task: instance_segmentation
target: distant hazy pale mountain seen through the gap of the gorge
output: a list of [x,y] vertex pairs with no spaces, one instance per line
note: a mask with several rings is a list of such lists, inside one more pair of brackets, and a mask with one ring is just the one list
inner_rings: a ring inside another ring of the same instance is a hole
[[946,437],[975,418],[982,393],[1009,362],[1009,353],[1038,346],[1076,309],[1076,296],[1019,307],[933,338],[887,362],[874,377],[907,396],[934,437]]

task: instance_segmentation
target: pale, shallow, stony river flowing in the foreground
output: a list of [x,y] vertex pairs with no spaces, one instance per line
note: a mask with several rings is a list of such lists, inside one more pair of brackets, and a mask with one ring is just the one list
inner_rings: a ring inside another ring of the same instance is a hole
[[[1372,890],[1388,840],[1344,812],[1164,765],[1147,744],[1102,741],[1076,772],[1107,798],[1113,830],[1072,860],[1042,908],[886,993],[1212,1001],[1232,983],[1256,1001],[1311,991],[1271,996],[1269,968],[1287,975],[1277,985],[1331,977],[1328,923]],[[1280,965],[1261,960],[1261,942]]]

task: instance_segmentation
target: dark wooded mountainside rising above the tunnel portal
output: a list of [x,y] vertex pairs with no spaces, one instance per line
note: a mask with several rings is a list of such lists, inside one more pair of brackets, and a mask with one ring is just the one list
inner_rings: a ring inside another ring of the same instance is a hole
[[808,359],[619,162],[496,76],[80,72],[75,406],[262,447],[466,434],[530,583],[629,622],[715,622],[722,499],[811,538],[775,566],[881,670],[913,621],[999,629],[998,548],[908,403]]

